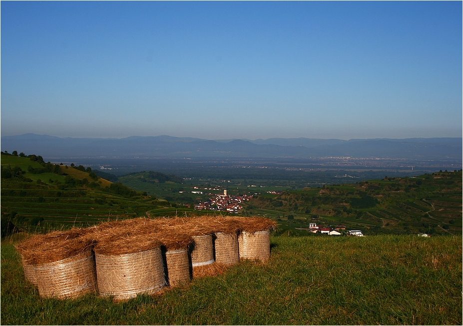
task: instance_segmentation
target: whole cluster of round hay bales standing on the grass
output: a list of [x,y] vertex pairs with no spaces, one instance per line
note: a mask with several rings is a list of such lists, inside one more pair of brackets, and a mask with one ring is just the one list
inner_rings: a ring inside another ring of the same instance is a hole
[[138,218],[35,235],[16,248],[41,297],[97,291],[123,300],[221,273],[240,258],[265,262],[275,225],[259,217]]

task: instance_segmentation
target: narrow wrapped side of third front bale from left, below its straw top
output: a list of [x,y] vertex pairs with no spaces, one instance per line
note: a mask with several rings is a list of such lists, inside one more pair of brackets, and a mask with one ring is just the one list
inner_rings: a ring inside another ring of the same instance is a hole
[[166,281],[170,287],[190,282],[190,260],[188,250],[168,250],[165,252],[167,273]]

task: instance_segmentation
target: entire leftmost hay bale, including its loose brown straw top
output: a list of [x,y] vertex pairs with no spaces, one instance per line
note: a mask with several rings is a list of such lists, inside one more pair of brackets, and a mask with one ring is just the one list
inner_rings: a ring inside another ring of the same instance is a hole
[[71,229],[35,235],[20,243],[24,276],[38,288],[40,297],[75,298],[95,291],[92,242],[84,230]]

